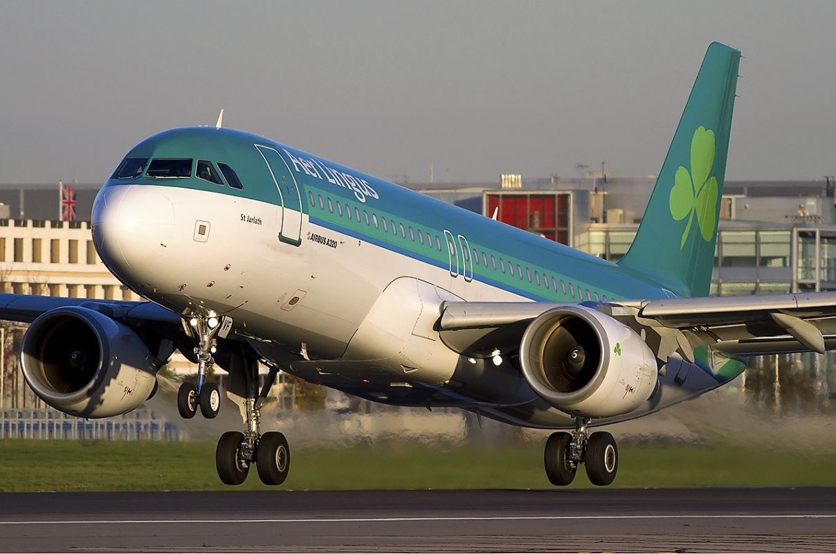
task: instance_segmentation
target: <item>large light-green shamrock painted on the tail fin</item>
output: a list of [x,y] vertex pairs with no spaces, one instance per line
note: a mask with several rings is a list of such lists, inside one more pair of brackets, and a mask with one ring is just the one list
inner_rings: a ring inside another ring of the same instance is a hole
[[714,131],[699,126],[691,138],[691,173],[680,166],[670,189],[670,215],[676,221],[688,218],[680,249],[685,248],[695,214],[702,238],[708,241],[714,236],[718,187],[716,177],[708,177],[713,166]]

